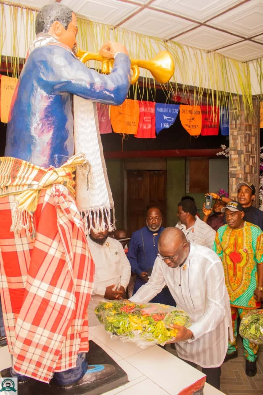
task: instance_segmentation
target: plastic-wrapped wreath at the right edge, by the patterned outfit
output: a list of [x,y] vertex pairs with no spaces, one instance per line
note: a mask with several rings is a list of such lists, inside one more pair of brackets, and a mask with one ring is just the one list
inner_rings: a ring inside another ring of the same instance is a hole
[[250,310],[240,322],[239,333],[251,343],[263,344],[263,310]]

